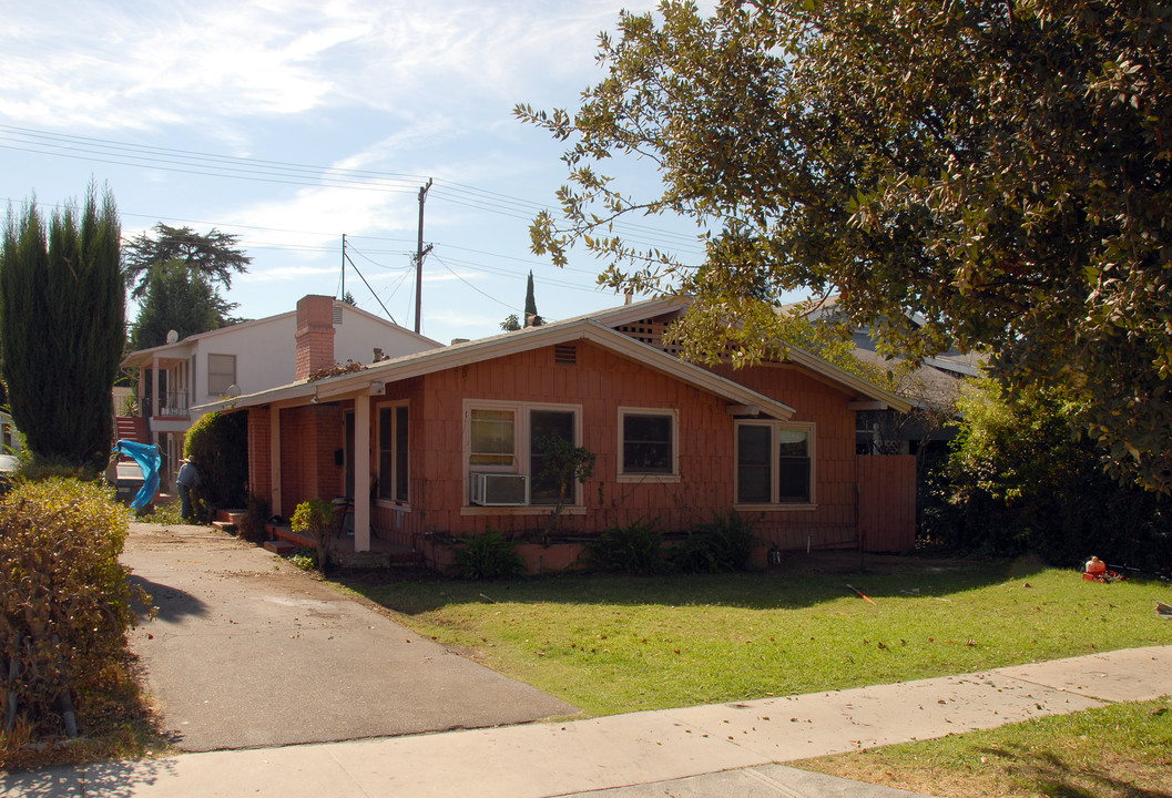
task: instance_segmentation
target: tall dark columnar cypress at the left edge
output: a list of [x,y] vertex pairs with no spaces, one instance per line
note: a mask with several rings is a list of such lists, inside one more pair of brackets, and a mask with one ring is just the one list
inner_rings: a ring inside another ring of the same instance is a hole
[[110,388],[125,343],[121,229],[98,206],[9,210],[0,255],[0,361],[16,427],[38,457],[100,468],[114,439]]

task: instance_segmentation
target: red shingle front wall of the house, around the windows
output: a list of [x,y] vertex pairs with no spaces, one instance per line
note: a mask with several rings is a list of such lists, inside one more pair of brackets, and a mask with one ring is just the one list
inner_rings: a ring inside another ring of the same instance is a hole
[[[818,507],[759,513],[758,534],[788,548],[805,547],[808,536],[813,536],[813,546],[856,545],[854,416],[846,408],[847,397],[793,369],[763,368],[738,376],[795,407],[795,421],[817,424]],[[640,518],[655,519],[665,531],[682,531],[732,506],[734,418],[725,411],[727,401],[586,342],[577,345],[574,366],[554,363],[550,347],[389,386],[384,400],[372,402],[372,435],[377,434],[380,401],[398,398],[410,401],[411,511],[396,518],[391,507],[376,506],[374,523],[381,537],[409,545],[425,532],[459,536],[484,532],[490,525],[505,532],[544,526],[546,513],[461,512],[468,505],[465,398],[582,407],[584,445],[598,459],[594,476],[581,489],[586,513],[563,514],[560,532],[595,533]],[[620,405],[679,411],[677,483],[616,480]]]

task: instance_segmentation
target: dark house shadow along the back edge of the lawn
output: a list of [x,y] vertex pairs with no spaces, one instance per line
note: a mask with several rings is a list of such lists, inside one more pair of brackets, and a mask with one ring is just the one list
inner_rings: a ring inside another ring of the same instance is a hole
[[[564,574],[496,581],[432,578],[404,580],[374,573],[341,573],[334,580],[389,609],[407,615],[468,602],[560,602],[609,606],[722,606],[744,609],[800,609],[846,595],[849,586],[880,600],[947,596],[1009,579],[1023,579],[1047,566],[1036,559],[982,562],[915,557],[864,557],[858,552],[786,555],[768,573]],[[851,565],[853,564],[853,567]]]

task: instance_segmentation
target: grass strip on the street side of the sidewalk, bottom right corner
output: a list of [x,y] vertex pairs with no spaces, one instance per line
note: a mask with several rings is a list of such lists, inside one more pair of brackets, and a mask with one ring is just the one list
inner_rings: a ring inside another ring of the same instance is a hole
[[786,764],[941,798],[1166,798],[1172,698]]

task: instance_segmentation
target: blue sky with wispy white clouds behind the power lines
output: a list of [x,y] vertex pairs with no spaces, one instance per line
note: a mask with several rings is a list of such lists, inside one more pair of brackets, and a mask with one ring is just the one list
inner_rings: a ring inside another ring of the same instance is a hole
[[[425,335],[499,332],[530,270],[548,319],[618,305],[592,258],[558,270],[529,251],[563,146],[512,108],[573,108],[602,77],[598,33],[653,5],[9,0],[0,200],[53,206],[93,179],[114,192],[124,236],[158,221],[237,233],[253,264],[226,298],[246,318],[336,294],[345,233],[370,286],[347,265],[346,288],[413,327],[417,193],[431,178]],[[639,164],[612,166],[654,187]],[[702,258],[686,224],[639,225],[627,232]]]

